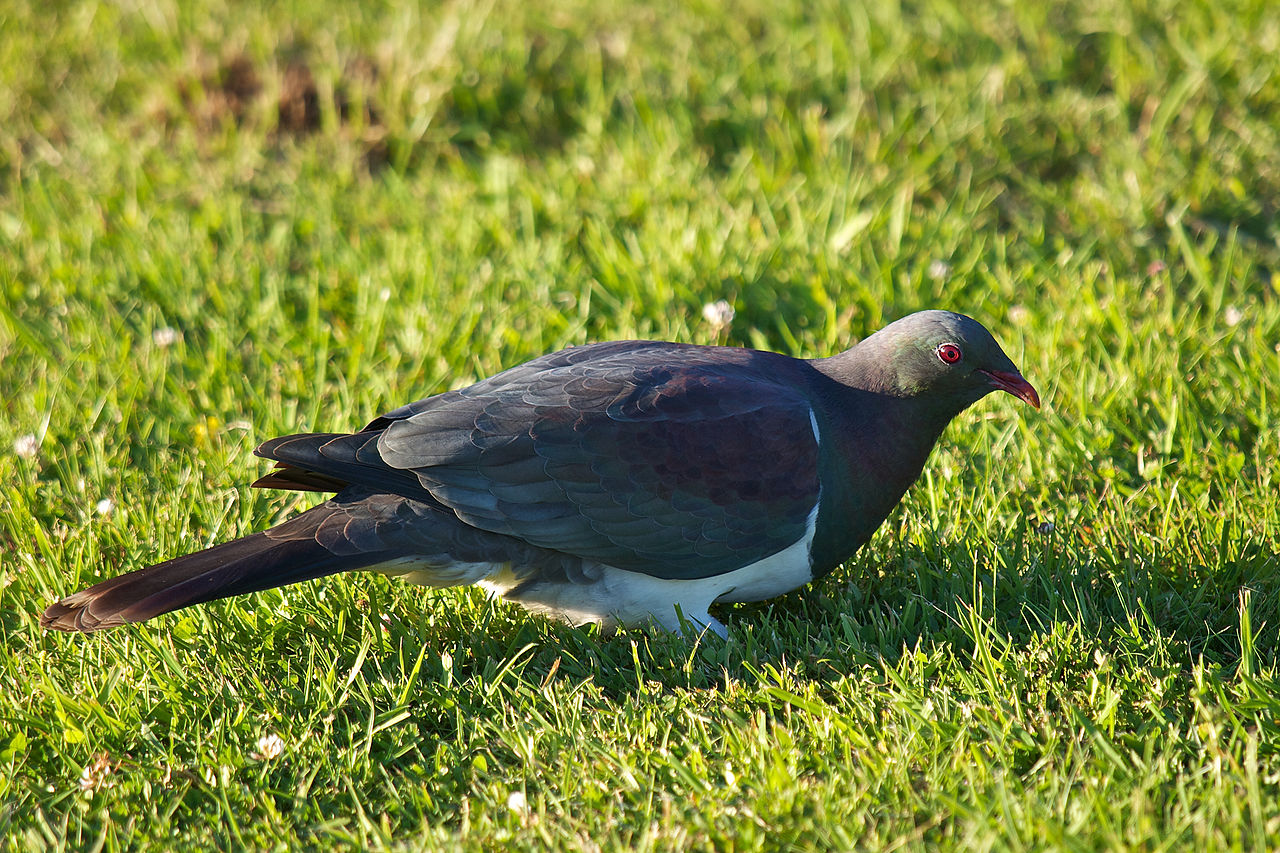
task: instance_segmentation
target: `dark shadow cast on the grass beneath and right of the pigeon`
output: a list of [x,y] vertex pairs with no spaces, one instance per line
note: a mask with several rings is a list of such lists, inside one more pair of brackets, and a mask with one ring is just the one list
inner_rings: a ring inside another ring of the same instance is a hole
[[922,648],[966,661],[991,638],[1005,649],[1057,643],[1082,660],[1158,658],[1176,670],[1199,661],[1235,669],[1245,658],[1272,666],[1276,565],[1280,555],[1252,542],[1212,567],[1184,566],[1138,551],[1102,557],[1085,542],[1028,528],[968,546],[900,542],[788,596],[717,608],[727,642],[515,616],[515,634],[476,631],[463,646],[476,660],[518,649],[526,678],[544,686],[590,683],[616,699],[754,684],[780,670],[840,679]]

